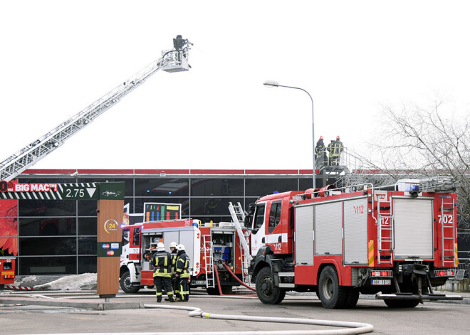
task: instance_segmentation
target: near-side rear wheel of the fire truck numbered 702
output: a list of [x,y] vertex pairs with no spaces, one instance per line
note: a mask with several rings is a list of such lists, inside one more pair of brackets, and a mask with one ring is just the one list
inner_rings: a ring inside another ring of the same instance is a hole
[[340,286],[338,274],[332,266],[325,267],[318,280],[318,294],[321,304],[328,309],[345,307],[348,299],[348,289]]

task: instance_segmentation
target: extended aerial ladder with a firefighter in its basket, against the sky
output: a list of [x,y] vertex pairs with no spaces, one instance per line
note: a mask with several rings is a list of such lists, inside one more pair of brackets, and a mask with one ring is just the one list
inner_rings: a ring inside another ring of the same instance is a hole
[[70,119],[59,124],[56,128],[43,135],[36,141],[31,142],[23,149],[9,156],[0,163],[0,181],[10,181],[21,172],[28,169],[44,156],[60,147],[66,140],[81,129],[85,128],[94,119],[102,115],[106,110],[120,102],[122,97],[135,90],[158,70],[167,72],[187,71],[191,66],[188,64],[188,54],[192,43],[183,39],[181,35],[173,38],[172,50],[162,51],[162,57],[154,60],[145,68],[128,78],[122,84],[115,87],[100,99],[93,102],[84,110],[78,112]]

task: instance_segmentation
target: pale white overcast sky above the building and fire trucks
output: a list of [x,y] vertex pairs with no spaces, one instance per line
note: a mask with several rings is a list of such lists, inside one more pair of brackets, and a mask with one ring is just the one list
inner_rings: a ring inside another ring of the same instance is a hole
[[381,105],[444,95],[469,113],[468,1],[1,1],[0,159],[160,58],[34,169],[311,169],[315,142],[380,136]]

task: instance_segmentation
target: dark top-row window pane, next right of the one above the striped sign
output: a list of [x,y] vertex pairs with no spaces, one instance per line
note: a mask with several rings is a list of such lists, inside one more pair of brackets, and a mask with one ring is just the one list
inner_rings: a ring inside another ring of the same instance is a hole
[[192,196],[243,196],[243,179],[191,179]]

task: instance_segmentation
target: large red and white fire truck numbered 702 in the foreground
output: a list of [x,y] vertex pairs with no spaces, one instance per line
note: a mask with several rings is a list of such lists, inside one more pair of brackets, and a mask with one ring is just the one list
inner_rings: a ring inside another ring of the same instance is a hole
[[452,183],[325,186],[258,199],[245,220],[258,298],[278,304],[287,291],[310,291],[326,308],[355,307],[360,293],[388,307],[462,299],[432,289],[454,277],[458,262]]

